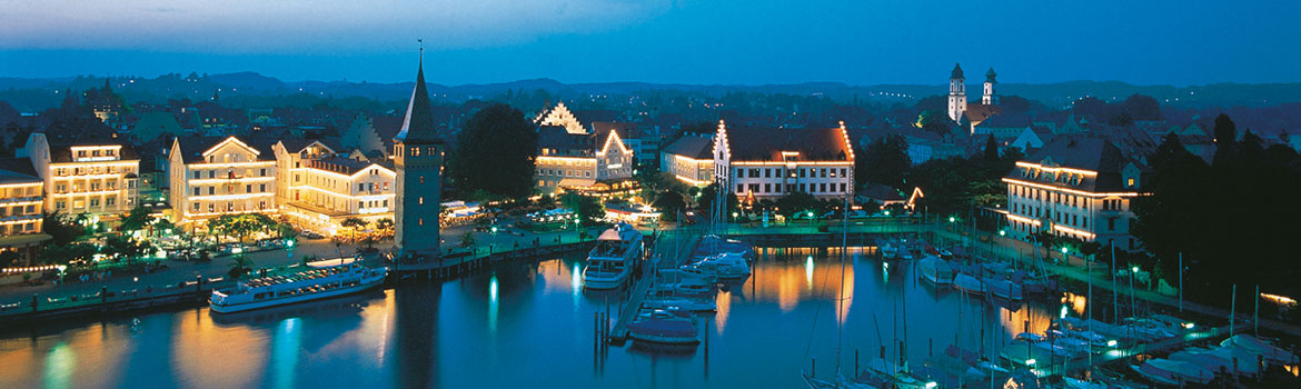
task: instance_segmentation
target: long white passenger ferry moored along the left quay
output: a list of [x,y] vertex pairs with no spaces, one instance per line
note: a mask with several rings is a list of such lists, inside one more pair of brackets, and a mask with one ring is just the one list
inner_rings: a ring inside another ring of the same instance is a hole
[[248,310],[316,301],[356,293],[384,282],[388,268],[367,268],[351,258],[308,263],[312,269],[293,275],[267,276],[212,290],[212,312]]

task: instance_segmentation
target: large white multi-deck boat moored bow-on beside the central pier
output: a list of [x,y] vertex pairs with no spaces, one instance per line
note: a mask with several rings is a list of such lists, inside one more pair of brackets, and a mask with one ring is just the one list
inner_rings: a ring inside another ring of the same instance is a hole
[[628,281],[641,260],[641,233],[626,222],[615,224],[596,239],[583,269],[583,288],[615,289]]

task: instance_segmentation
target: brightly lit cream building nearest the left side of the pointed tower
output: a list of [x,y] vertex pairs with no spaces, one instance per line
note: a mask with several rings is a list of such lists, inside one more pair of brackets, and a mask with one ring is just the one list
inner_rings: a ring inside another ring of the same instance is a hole
[[280,141],[272,150],[276,203],[294,225],[333,235],[349,217],[393,219],[397,172],[388,161],[340,156],[319,141]]

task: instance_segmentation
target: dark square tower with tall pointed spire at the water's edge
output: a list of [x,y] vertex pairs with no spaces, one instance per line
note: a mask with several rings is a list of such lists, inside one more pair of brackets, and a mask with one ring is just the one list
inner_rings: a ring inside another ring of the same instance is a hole
[[438,204],[442,191],[444,143],[435,134],[429,92],[424,86],[424,48],[402,130],[393,137],[397,168],[394,242],[398,263],[438,256]]

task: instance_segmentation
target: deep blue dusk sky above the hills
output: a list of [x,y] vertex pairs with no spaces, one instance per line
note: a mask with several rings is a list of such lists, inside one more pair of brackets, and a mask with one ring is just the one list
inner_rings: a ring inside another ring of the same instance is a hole
[[0,0],[0,77],[445,85],[1301,81],[1301,1]]

